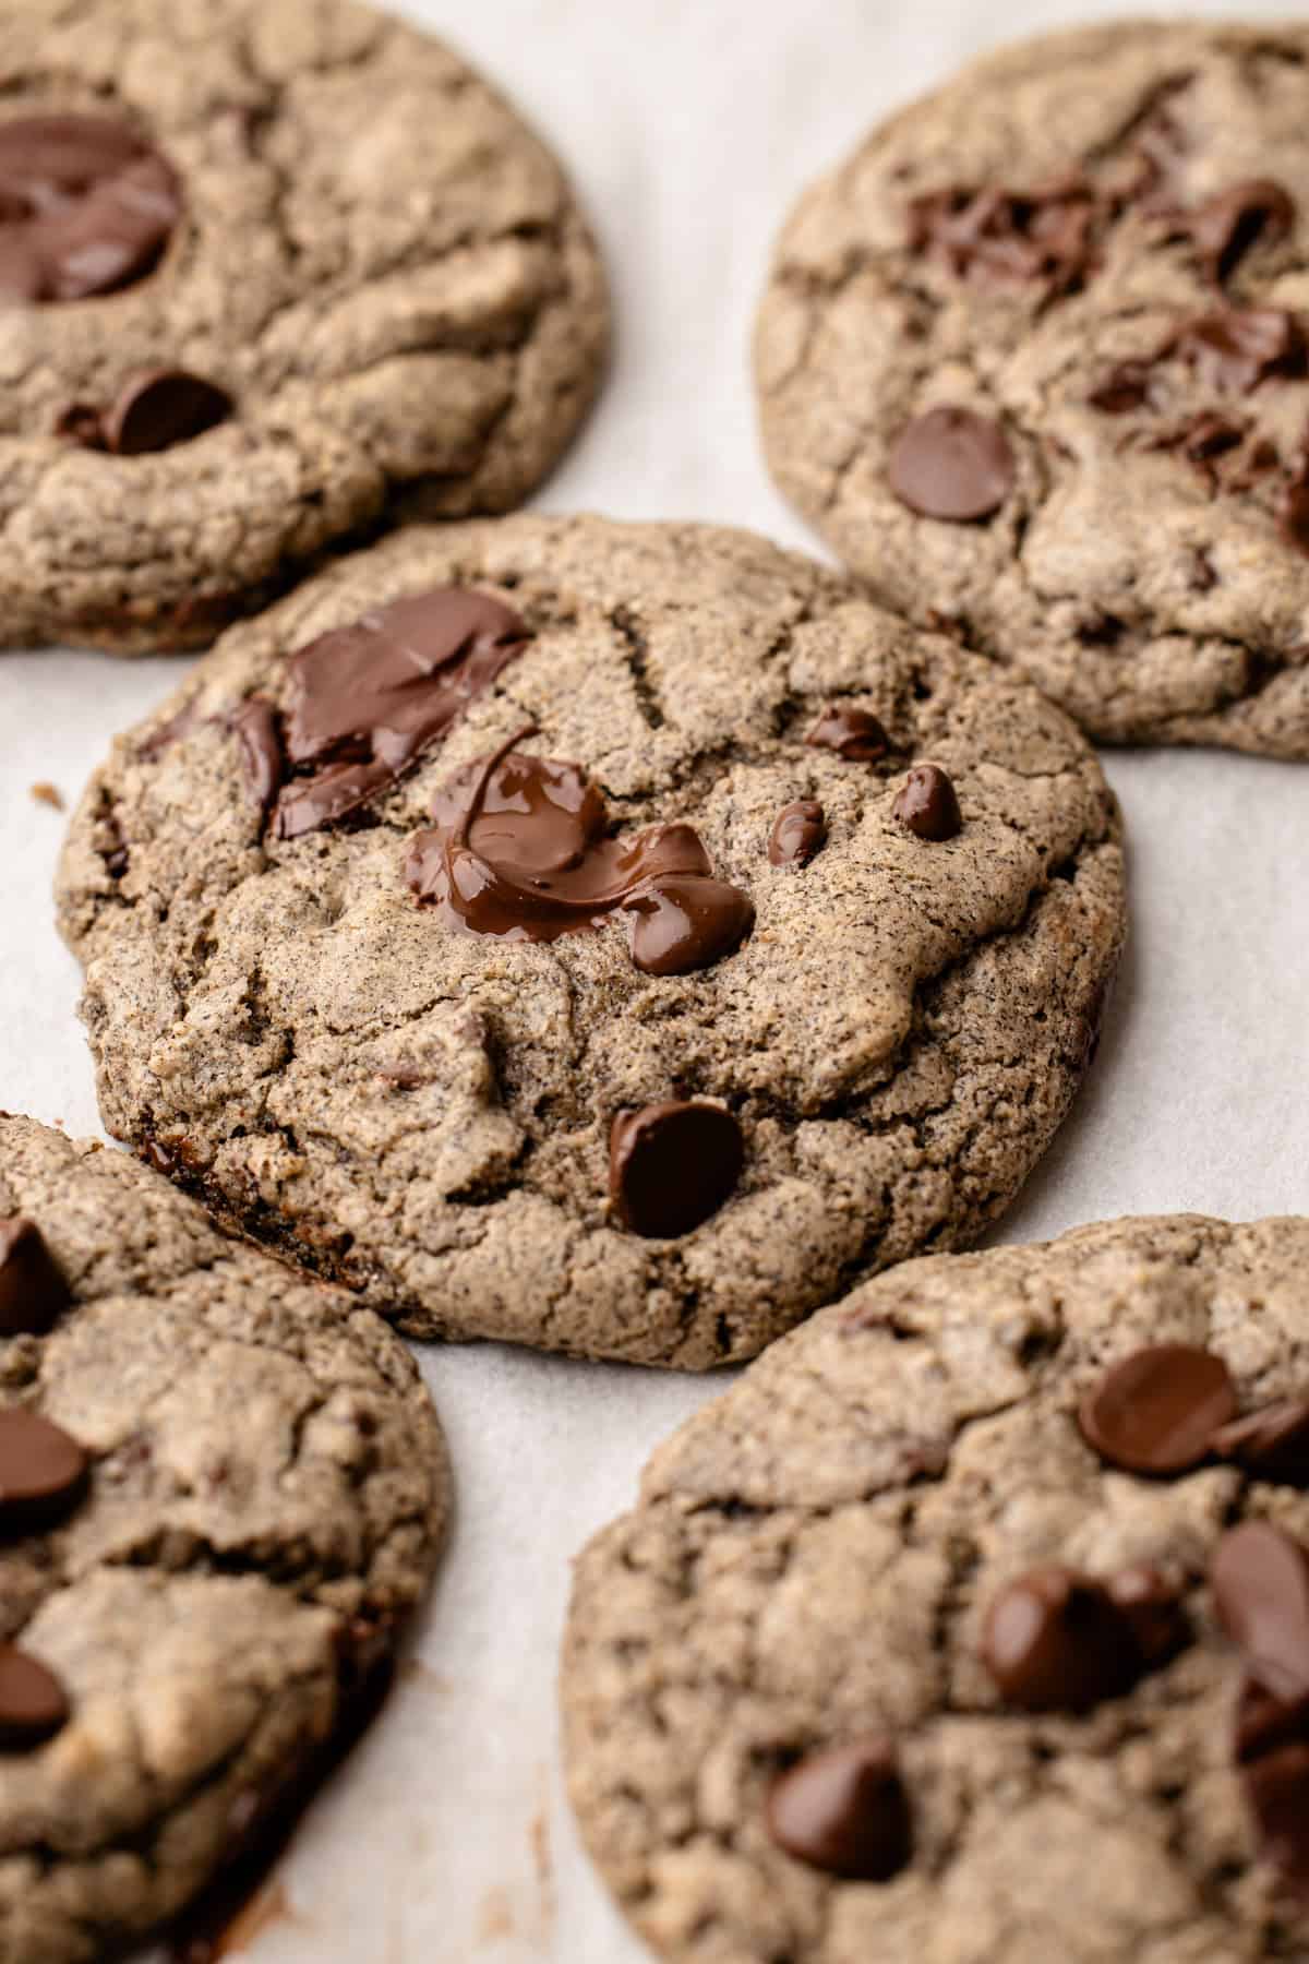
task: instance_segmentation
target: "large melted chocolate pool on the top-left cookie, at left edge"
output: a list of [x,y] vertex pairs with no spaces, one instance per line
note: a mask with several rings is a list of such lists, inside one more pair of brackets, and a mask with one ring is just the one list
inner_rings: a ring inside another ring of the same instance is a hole
[[173,167],[128,124],[0,122],[0,304],[84,300],[145,279],[181,212]]

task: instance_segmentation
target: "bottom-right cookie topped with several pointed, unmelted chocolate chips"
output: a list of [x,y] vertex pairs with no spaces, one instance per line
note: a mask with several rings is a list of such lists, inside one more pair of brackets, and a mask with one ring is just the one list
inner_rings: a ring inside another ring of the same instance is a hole
[[581,1555],[583,1834],[679,1964],[1309,1952],[1309,1220],[907,1263]]

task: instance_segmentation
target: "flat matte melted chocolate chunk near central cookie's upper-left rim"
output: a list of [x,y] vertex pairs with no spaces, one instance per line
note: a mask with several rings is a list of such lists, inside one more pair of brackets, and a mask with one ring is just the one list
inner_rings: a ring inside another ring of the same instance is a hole
[[528,642],[491,593],[436,587],[320,634],[288,660],[279,839],[336,825],[387,791]]

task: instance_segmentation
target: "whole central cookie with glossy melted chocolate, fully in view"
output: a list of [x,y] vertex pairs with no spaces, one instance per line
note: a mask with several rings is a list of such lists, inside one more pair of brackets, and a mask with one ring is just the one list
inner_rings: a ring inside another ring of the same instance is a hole
[[1123,935],[1021,678],[744,532],[408,530],[71,827],[106,1123],[416,1336],[703,1367],[977,1235]]

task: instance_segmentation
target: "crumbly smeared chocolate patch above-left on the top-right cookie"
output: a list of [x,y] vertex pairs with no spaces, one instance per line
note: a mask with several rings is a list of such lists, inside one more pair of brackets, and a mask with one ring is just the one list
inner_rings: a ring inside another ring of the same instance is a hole
[[1097,198],[1081,179],[1040,191],[952,187],[909,206],[911,251],[983,287],[1036,285],[1054,297],[1093,261]]

